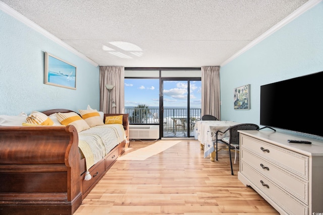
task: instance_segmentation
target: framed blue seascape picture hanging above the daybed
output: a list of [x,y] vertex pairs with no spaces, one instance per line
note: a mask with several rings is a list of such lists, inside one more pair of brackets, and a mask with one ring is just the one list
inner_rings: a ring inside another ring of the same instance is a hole
[[44,84],[76,90],[76,66],[45,52]]

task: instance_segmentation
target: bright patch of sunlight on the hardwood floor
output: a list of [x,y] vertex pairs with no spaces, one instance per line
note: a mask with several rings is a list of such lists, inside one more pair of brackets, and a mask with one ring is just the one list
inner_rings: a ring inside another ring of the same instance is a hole
[[160,140],[157,141],[155,144],[152,144],[148,147],[138,149],[134,152],[128,153],[120,158],[118,160],[136,160],[136,161],[143,161],[147,158],[157,155],[158,153],[161,153],[172,146],[175,146],[178,144],[181,140]]

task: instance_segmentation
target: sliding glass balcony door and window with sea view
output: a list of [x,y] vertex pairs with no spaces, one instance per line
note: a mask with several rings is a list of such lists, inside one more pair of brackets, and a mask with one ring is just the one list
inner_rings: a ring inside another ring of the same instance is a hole
[[[200,68],[125,68],[125,113],[130,124],[158,124],[160,137],[193,136],[201,111]],[[176,132],[174,118],[182,119]]]

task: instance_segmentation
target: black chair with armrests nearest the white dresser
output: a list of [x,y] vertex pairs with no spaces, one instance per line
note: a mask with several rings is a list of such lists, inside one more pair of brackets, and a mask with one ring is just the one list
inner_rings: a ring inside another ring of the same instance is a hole
[[[231,166],[231,175],[233,175],[231,150],[235,149],[235,162],[234,163],[236,163],[236,155],[237,155],[237,151],[239,151],[239,132],[238,132],[238,130],[257,130],[257,129],[259,129],[259,126],[256,124],[244,123],[244,124],[233,125],[225,131],[220,131],[220,130],[217,131],[217,138],[216,138],[217,161],[218,161],[218,141],[221,141],[224,144],[226,144],[228,147],[229,157],[230,157],[230,166]],[[219,134],[225,134],[226,132],[229,132],[229,137],[223,137],[222,139],[218,139]]]

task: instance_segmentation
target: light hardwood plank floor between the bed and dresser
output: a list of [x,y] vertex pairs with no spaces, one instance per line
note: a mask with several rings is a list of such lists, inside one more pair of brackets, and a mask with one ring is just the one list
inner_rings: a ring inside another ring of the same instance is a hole
[[[132,141],[123,156],[154,143]],[[238,180],[239,162],[231,175],[228,151],[211,162],[197,140],[179,140],[145,160],[137,157],[118,160],[74,214],[279,214]]]

